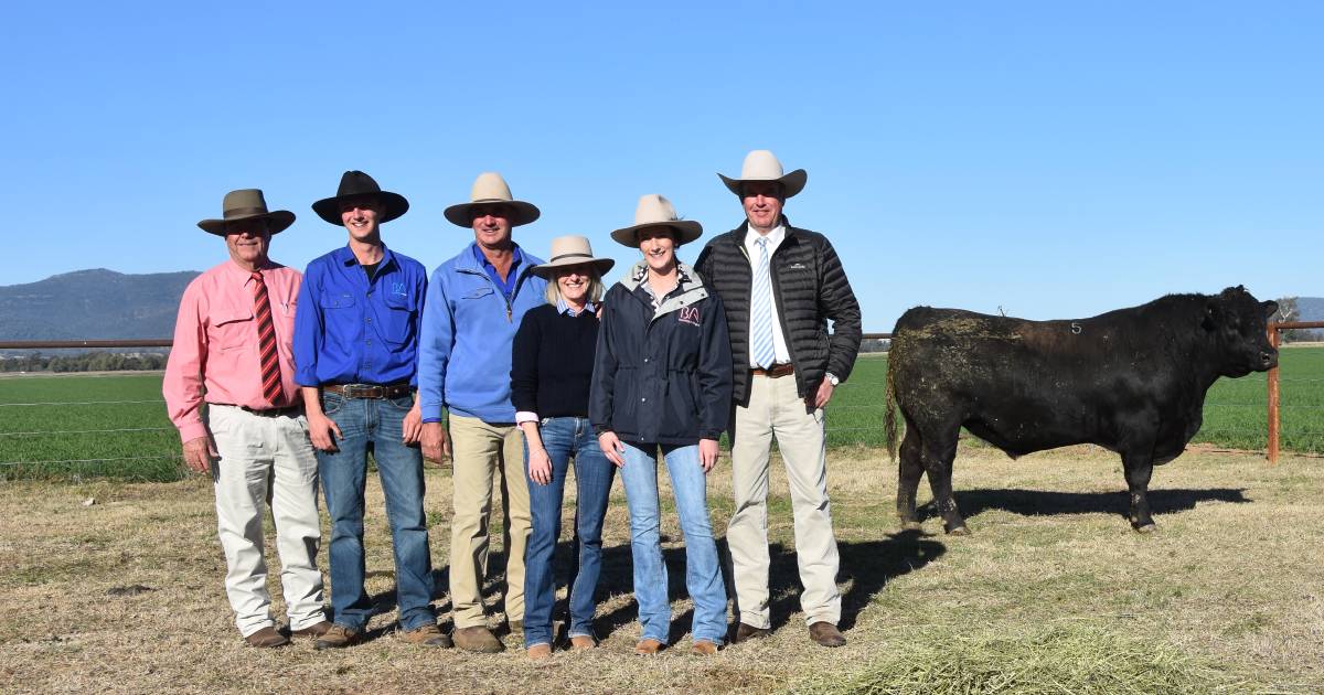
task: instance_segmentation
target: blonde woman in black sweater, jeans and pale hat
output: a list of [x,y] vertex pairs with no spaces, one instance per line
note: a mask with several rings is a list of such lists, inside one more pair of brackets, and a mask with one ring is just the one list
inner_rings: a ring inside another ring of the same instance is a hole
[[579,561],[571,580],[571,649],[593,649],[593,592],[602,563],[602,518],[616,469],[602,455],[588,420],[589,381],[597,344],[601,277],[614,261],[594,258],[584,237],[552,240],[547,303],[524,314],[515,334],[510,381],[515,421],[524,432],[524,470],[532,533],[524,556],[524,649],[532,659],[552,653],[552,555],[561,532],[565,473],[575,458],[575,539]]

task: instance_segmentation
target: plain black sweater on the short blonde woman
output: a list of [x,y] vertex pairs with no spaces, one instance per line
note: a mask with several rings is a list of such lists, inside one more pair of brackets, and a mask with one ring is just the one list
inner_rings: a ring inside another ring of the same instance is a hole
[[552,304],[531,308],[515,332],[510,398],[538,417],[588,417],[597,315],[571,318]]

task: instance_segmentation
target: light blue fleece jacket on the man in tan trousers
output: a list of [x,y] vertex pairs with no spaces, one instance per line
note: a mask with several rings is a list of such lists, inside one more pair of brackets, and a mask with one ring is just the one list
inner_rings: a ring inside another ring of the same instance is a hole
[[442,408],[483,422],[514,422],[510,361],[524,312],[547,302],[547,281],[524,252],[510,303],[474,258],[474,244],[441,263],[428,283],[418,342],[418,405],[424,422]]

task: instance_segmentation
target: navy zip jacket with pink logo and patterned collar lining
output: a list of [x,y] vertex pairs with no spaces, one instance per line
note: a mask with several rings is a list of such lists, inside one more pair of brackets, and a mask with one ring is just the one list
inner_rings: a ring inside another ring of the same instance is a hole
[[731,339],[722,299],[690,266],[654,311],[637,263],[602,302],[589,392],[597,434],[634,445],[716,440],[731,416]]

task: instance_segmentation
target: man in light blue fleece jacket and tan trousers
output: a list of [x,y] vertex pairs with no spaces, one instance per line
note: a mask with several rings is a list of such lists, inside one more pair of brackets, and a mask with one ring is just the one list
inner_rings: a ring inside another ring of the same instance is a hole
[[[506,523],[506,621],[524,621],[524,547],[531,515],[524,440],[510,400],[511,346],[524,312],[544,302],[542,263],[511,240],[511,229],[538,220],[534,205],[514,200],[499,173],[481,173],[469,203],[446,208],[446,220],[473,229],[474,242],[441,263],[428,285],[418,346],[422,453],[454,453],[454,519],[450,526],[450,602],[455,646],[500,651],[487,626],[482,586],[487,575],[487,519],[493,483],[502,486]],[[449,410],[449,437],[442,424]]]

